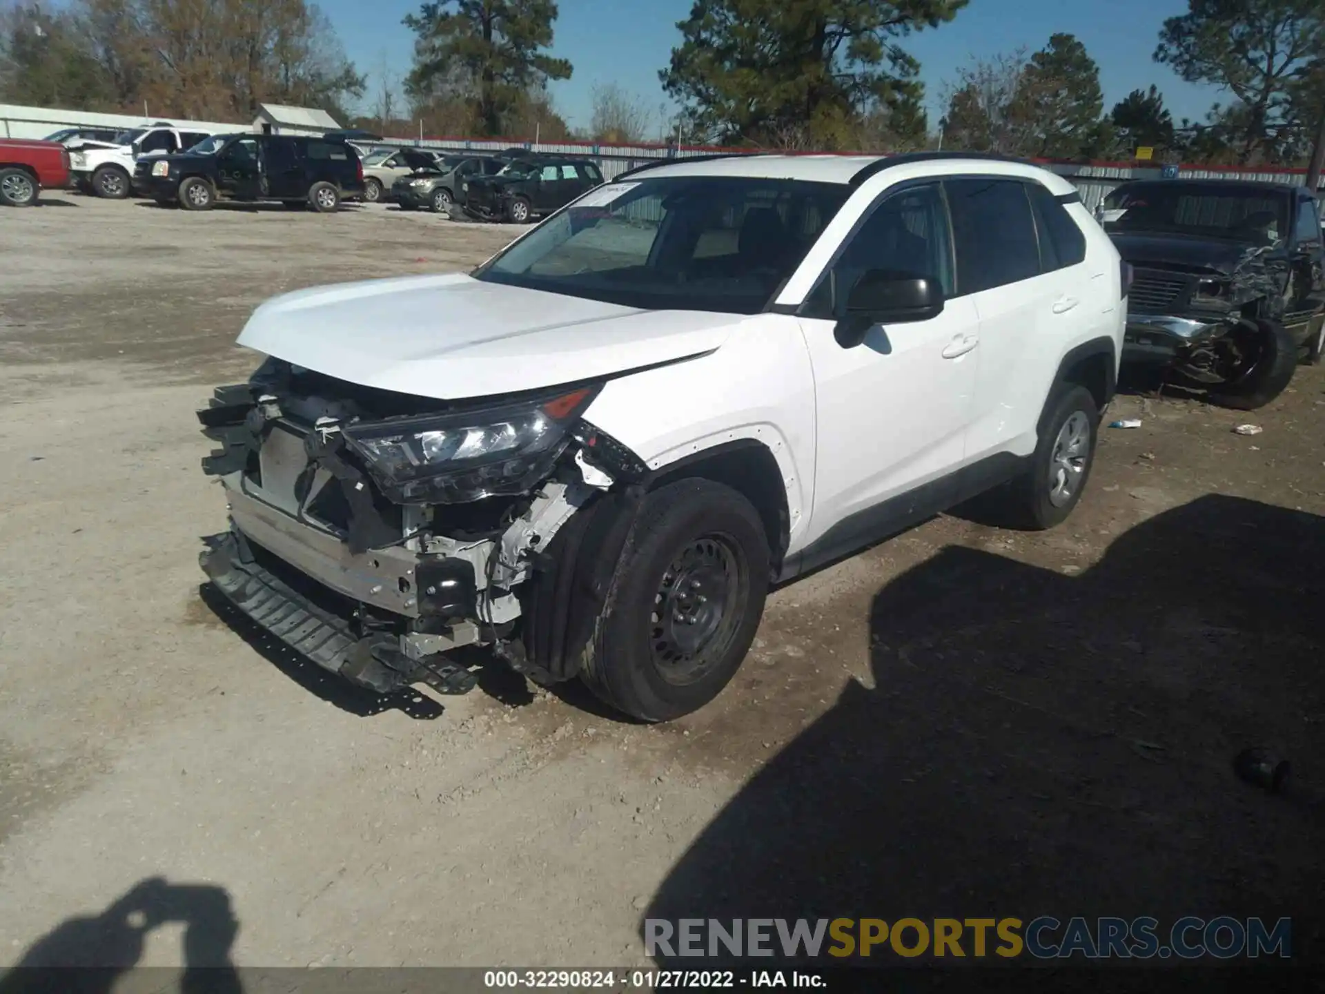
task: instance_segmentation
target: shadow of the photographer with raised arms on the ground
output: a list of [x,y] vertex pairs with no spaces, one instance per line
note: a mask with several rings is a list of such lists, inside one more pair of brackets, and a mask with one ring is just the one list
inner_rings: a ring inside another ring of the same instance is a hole
[[38,938],[0,975],[0,994],[109,994],[142,958],[147,936],[168,922],[184,925],[184,971],[178,987],[154,983],[152,990],[240,994],[231,962],[238,921],[229,893],[162,877],[142,880],[99,914],[68,918]]

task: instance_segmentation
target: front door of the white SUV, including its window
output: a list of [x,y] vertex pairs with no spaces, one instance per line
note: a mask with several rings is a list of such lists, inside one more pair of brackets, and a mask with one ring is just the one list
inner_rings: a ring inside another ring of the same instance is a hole
[[818,411],[811,542],[832,529],[851,545],[856,533],[943,505],[965,456],[977,380],[975,306],[969,297],[949,300],[938,317],[876,325],[863,345],[844,349],[833,338],[833,310],[869,269],[930,277],[945,294],[953,292],[938,183],[885,192],[803,307],[819,315],[802,317]]

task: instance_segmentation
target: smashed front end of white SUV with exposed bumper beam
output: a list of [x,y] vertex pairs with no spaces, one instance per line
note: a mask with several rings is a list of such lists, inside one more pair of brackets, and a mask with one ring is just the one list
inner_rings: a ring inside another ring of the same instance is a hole
[[231,517],[201,566],[261,627],[378,692],[468,692],[450,655],[466,645],[568,679],[615,562],[599,546],[624,541],[645,473],[583,420],[596,392],[450,404],[269,359],[199,411]]

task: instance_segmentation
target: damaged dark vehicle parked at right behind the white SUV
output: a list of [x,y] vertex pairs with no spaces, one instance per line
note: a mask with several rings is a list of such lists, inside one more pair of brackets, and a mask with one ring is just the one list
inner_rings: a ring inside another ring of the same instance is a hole
[[1325,353],[1316,196],[1244,180],[1126,183],[1101,220],[1133,268],[1122,360],[1158,364],[1226,407],[1279,396]]

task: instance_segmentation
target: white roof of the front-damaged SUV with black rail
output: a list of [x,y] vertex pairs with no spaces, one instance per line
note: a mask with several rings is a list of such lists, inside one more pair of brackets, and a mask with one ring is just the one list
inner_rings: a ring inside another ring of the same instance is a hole
[[[914,152],[909,155],[714,155],[676,159],[665,166],[647,166],[628,174],[640,179],[664,176],[750,176],[794,179],[811,183],[860,186],[876,175],[916,179],[924,176],[980,172],[1006,176],[1034,176],[1051,190],[1072,190],[1071,184],[1034,163],[1002,156],[961,152]],[[625,179],[627,174],[617,176]]]

